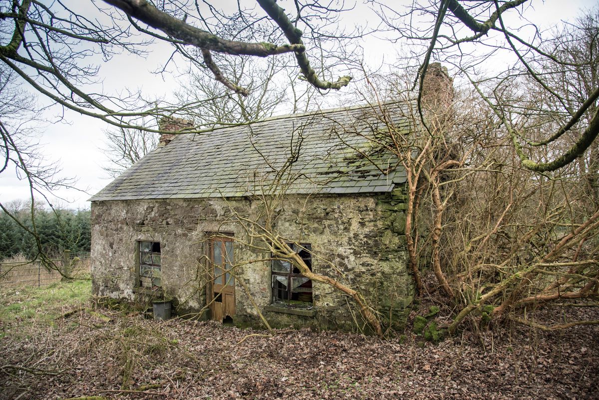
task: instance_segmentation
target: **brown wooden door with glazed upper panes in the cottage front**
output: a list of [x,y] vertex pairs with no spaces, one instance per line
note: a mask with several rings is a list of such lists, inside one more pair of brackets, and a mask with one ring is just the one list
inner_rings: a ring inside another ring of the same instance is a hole
[[214,237],[210,240],[212,319],[222,322],[235,315],[235,278],[231,268],[233,261],[233,238]]

